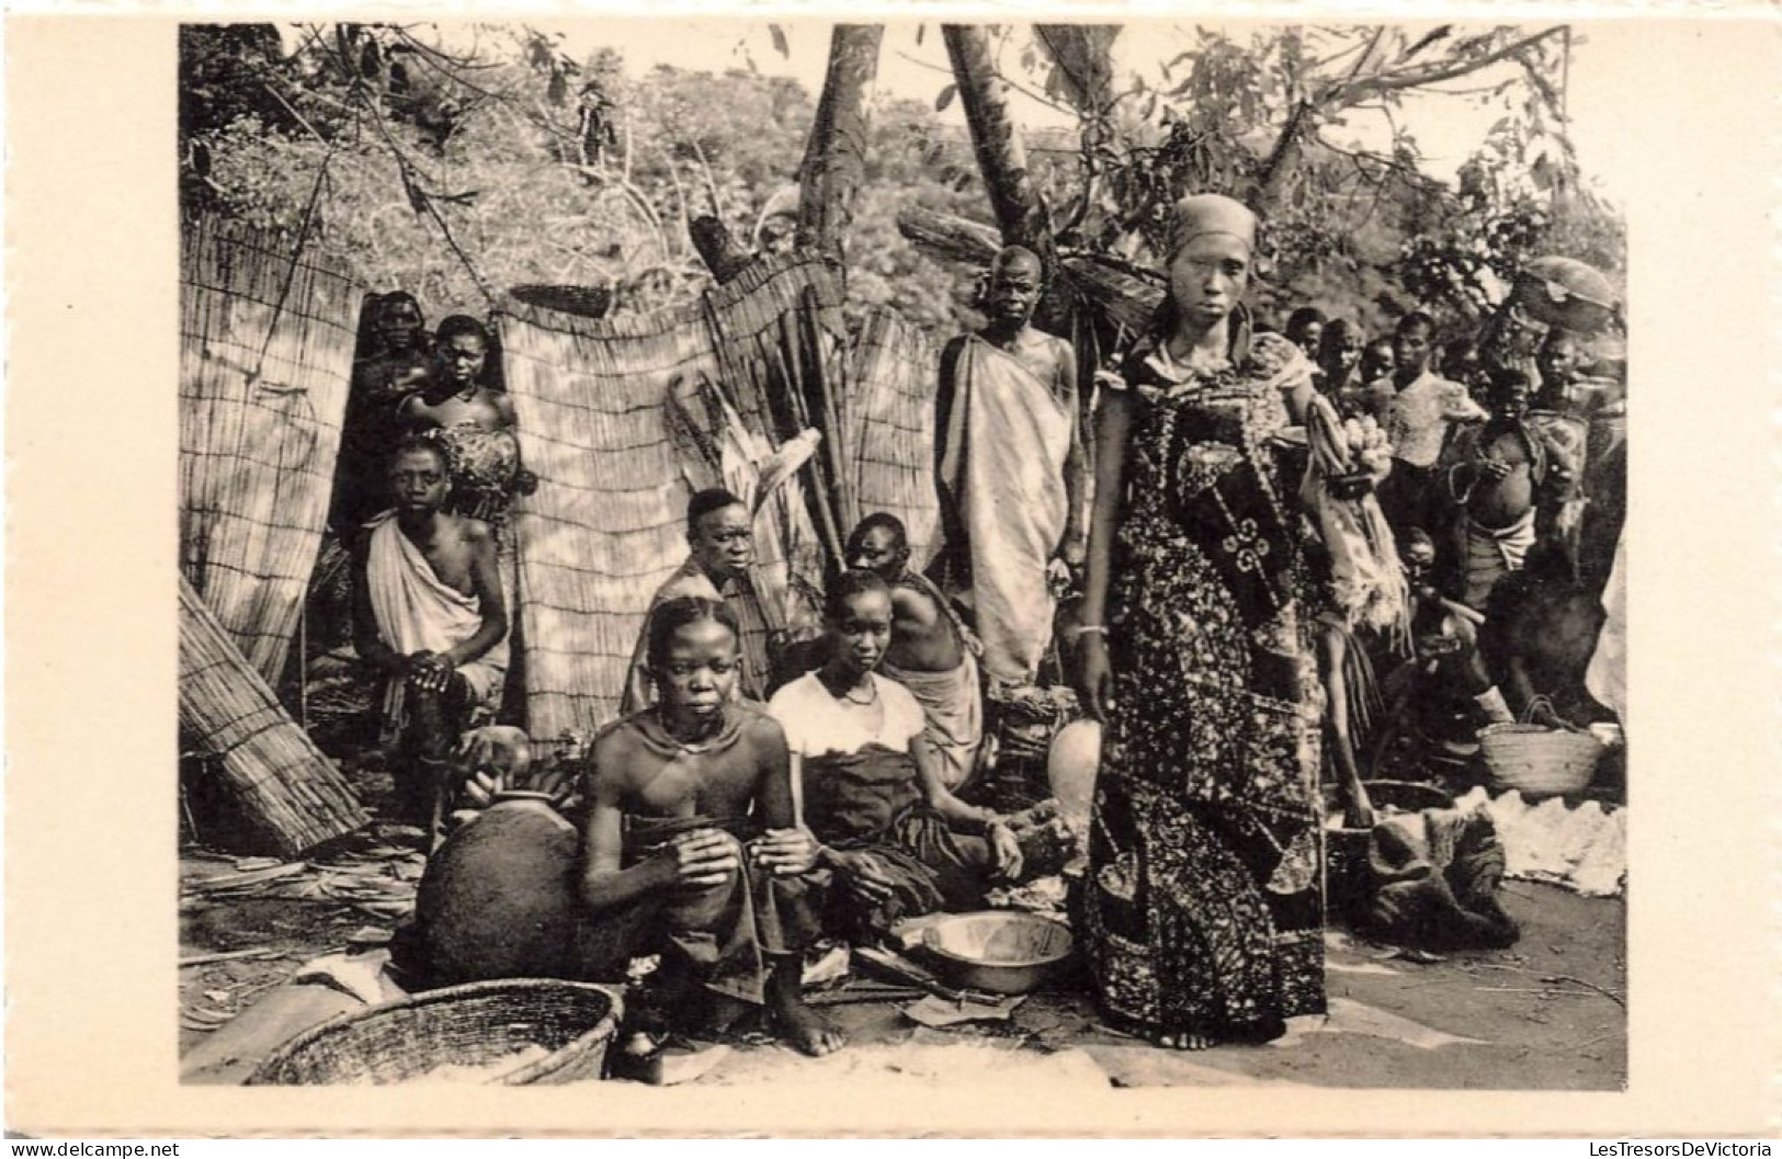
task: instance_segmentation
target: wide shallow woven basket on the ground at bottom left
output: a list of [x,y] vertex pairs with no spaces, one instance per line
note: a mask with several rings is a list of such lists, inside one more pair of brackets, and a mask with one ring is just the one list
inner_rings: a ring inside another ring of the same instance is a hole
[[527,1047],[549,1056],[486,1086],[599,1079],[618,1025],[618,999],[601,986],[503,979],[447,986],[344,1015],[299,1034],[249,1086],[387,1086],[454,1066],[485,1066]]

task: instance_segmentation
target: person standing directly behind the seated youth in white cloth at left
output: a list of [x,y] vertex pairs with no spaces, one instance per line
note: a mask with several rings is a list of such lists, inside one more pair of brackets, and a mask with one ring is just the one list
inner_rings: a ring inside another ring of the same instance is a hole
[[538,480],[520,469],[513,403],[483,383],[488,348],[488,330],[474,317],[453,314],[442,321],[433,376],[403,399],[397,421],[451,456],[451,510],[499,528],[513,496],[531,494]]

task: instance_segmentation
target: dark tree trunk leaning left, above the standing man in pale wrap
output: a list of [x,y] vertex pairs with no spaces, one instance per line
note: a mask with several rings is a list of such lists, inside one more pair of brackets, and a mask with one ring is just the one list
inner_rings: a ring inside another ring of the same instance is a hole
[[1021,148],[1021,136],[1009,114],[1005,86],[996,75],[984,29],[943,25],[941,34],[946,37],[959,102],[971,127],[971,146],[1003,244],[1026,246],[1041,257],[1051,276],[1057,273],[1051,214],[1026,171],[1026,150]]

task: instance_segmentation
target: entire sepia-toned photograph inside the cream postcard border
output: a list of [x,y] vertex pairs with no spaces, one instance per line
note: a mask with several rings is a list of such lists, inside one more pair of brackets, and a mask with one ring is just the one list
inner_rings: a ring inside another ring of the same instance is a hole
[[1595,68],[182,25],[182,1082],[1622,1089]]

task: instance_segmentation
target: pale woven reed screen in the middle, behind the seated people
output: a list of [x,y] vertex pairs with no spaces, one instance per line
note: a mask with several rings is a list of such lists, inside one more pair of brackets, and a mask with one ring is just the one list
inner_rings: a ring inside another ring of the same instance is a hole
[[807,301],[839,305],[832,269],[781,259],[699,305],[649,317],[504,308],[508,392],[526,465],[540,480],[513,508],[535,736],[586,733],[617,717],[650,596],[686,560],[686,499],[713,480],[670,430],[670,387],[699,424],[695,383],[722,383],[745,426],[779,444],[773,412],[786,399],[766,373],[768,348],[797,332],[784,317]]

